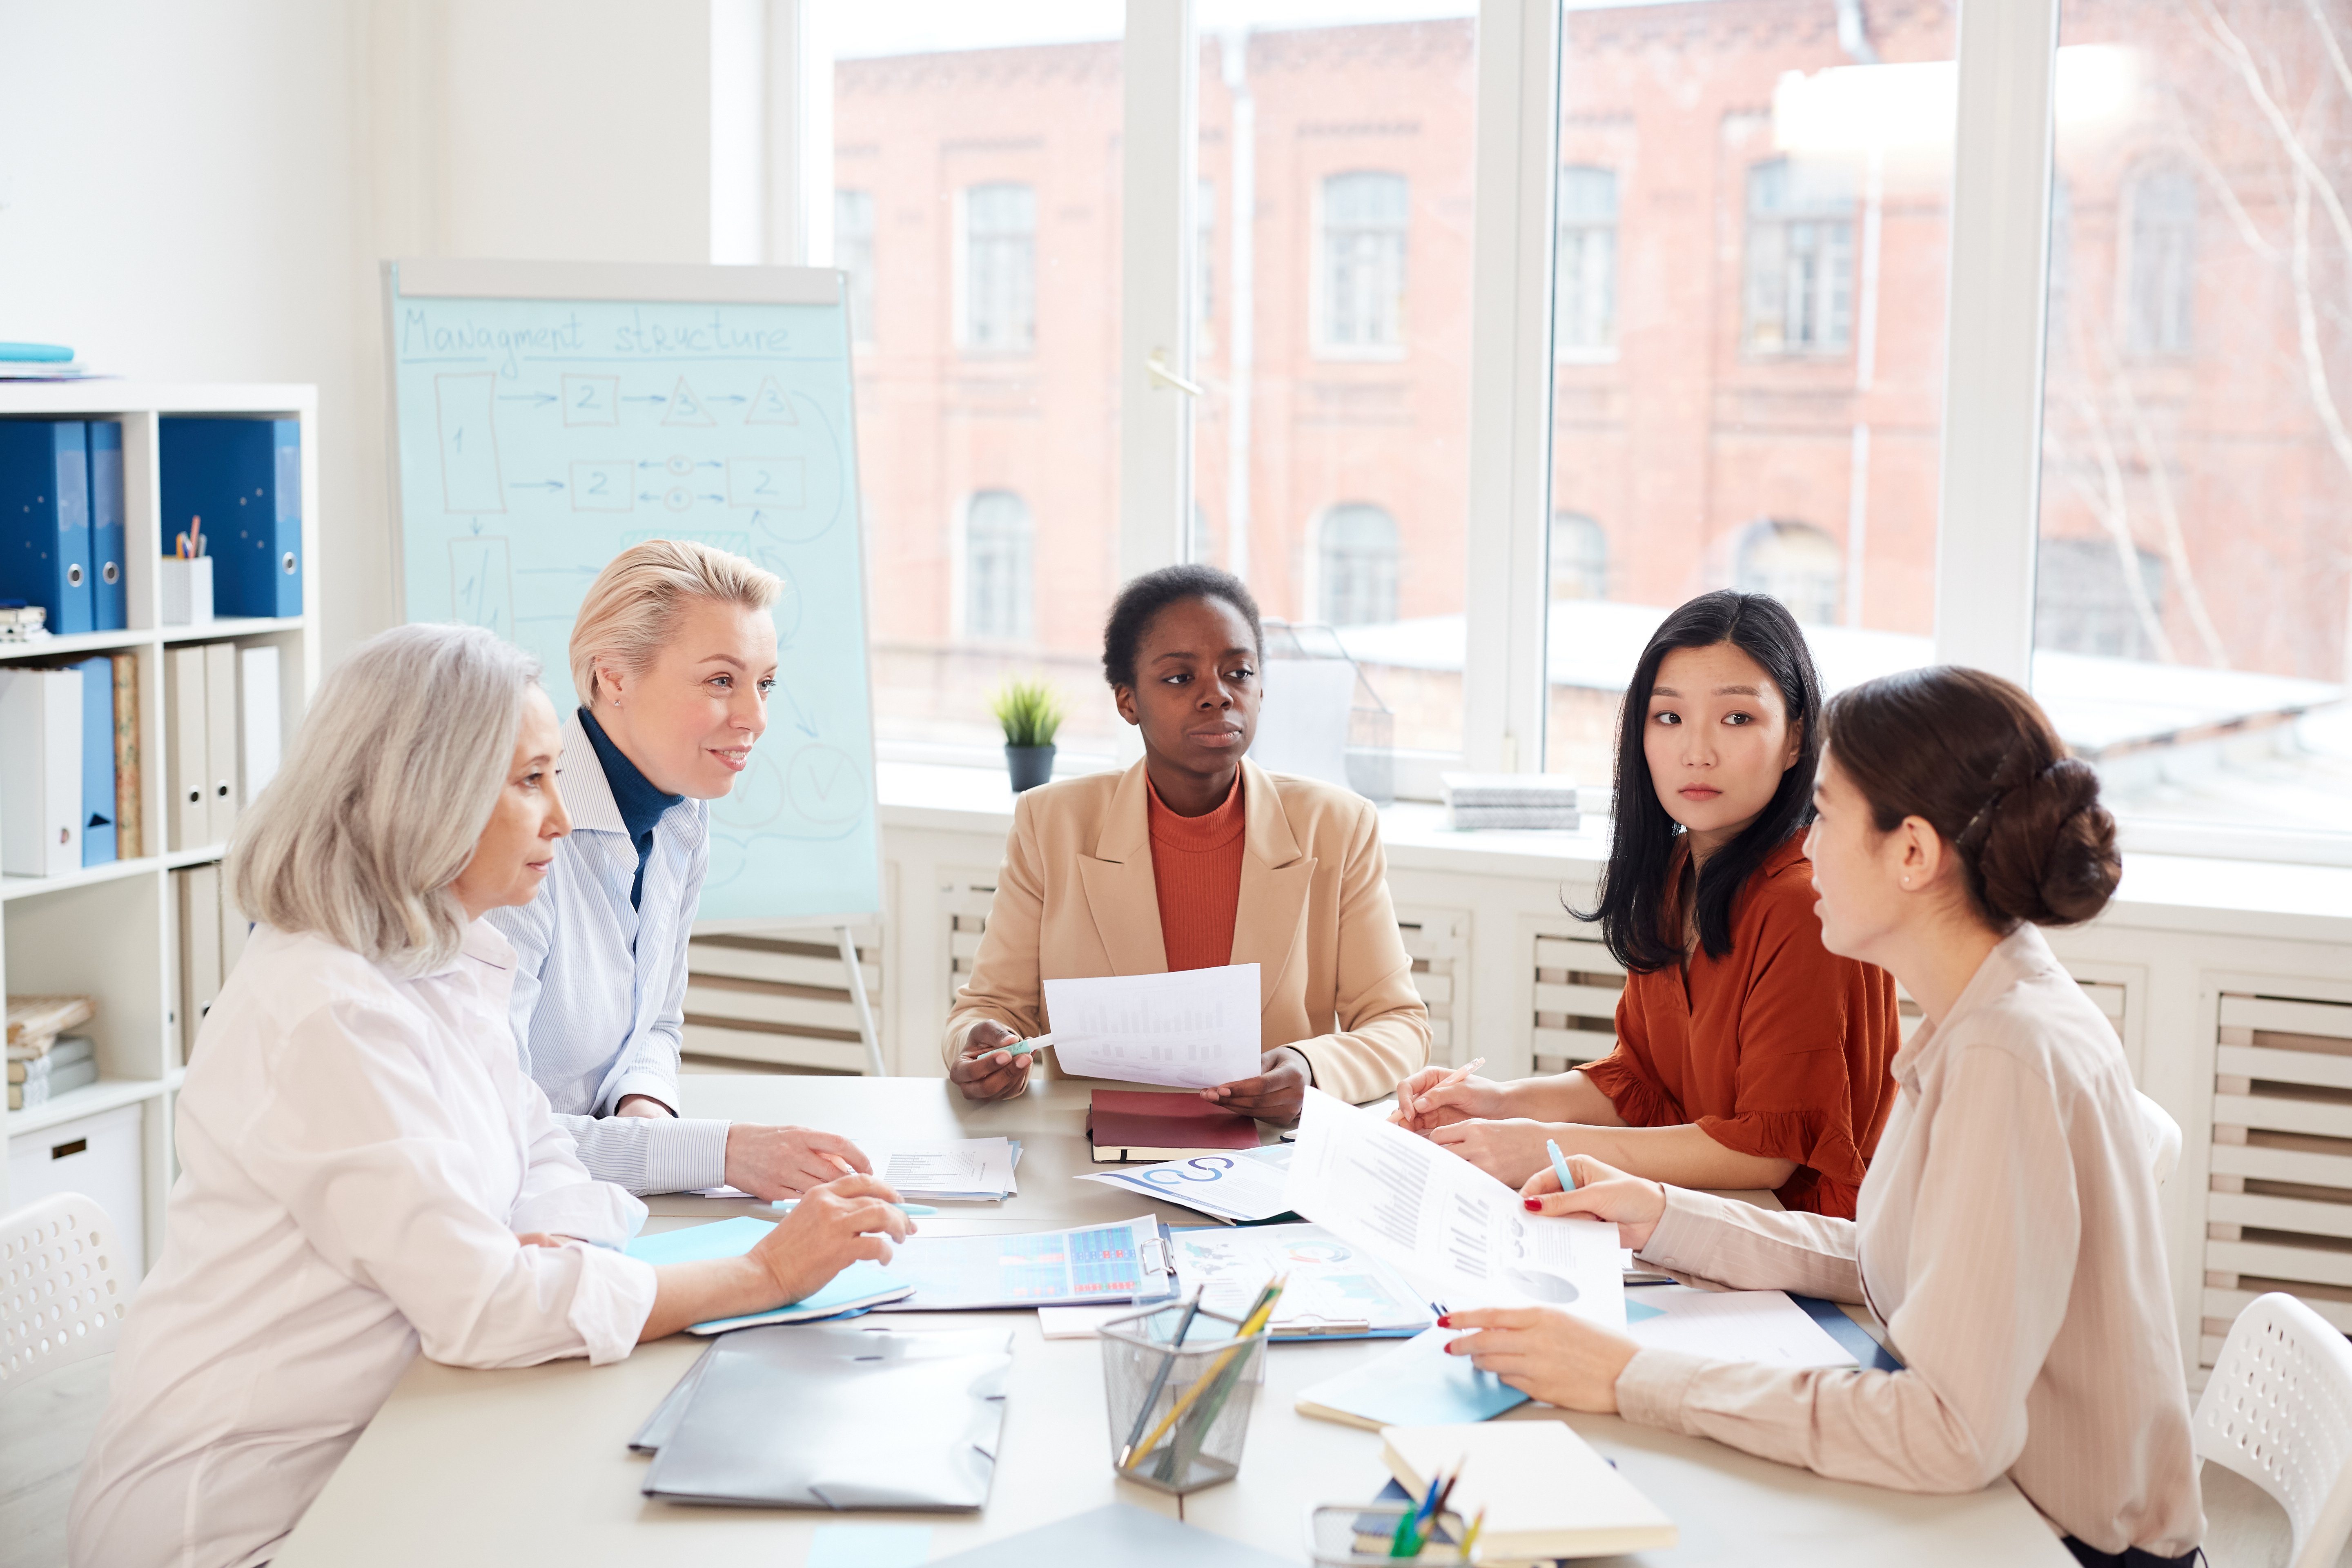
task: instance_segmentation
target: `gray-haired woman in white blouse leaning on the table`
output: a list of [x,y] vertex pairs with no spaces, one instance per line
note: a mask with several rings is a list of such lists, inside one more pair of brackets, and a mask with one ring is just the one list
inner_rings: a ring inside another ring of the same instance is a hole
[[748,1258],[649,1267],[515,1070],[515,952],[567,832],[555,710],[485,630],[405,625],[318,693],[228,853],[263,924],[179,1093],[181,1175],[68,1521],[75,1568],[263,1563],[419,1352],[619,1361],[797,1300],[910,1227],[870,1175]]

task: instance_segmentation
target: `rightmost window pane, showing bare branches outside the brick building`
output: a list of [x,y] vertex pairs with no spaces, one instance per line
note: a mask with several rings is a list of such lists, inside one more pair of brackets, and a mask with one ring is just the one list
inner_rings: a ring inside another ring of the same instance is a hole
[[2347,40],[2345,0],[2060,19],[2032,675],[2126,846],[2345,830]]

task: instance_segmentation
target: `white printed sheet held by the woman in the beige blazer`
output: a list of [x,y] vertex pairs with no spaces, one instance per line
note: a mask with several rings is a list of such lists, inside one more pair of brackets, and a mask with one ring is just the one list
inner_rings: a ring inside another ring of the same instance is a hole
[[1258,1077],[1258,966],[1047,980],[1054,1063],[1087,1079],[1214,1088]]

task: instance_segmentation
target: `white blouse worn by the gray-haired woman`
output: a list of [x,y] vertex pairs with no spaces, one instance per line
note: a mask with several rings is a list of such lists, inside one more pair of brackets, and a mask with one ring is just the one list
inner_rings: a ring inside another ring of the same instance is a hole
[[644,1206],[588,1178],[515,1065],[513,964],[482,922],[421,978],[254,933],[179,1093],[162,1262],[73,1495],[75,1568],[268,1561],[419,1349],[532,1366],[637,1342],[654,1272],[609,1248]]

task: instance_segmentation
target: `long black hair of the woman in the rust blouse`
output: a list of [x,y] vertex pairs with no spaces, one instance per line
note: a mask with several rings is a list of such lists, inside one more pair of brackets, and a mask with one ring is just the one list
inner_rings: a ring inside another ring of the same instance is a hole
[[1616,961],[1632,971],[1665,969],[1682,961],[1682,922],[1668,884],[1675,867],[1679,825],[1658,804],[1649,778],[1642,731],[1649,726],[1649,696],[1658,684],[1658,665],[1675,649],[1712,649],[1729,642],[1764,668],[1780,689],[1788,722],[1797,726],[1797,762],[1780,773],[1771,802],[1748,823],[1740,837],[1708,856],[1698,872],[1698,945],[1708,957],[1731,952],[1731,903],[1764,858],[1792,832],[1813,820],[1813,771],[1820,764],[1820,675],[1804,632],[1788,607],[1769,592],[1717,588],[1703,592],[1651,632],[1642,661],[1625,686],[1618,712],[1616,825],[1609,839],[1609,865],[1602,870],[1599,905],[1571,910],[1576,919],[1597,919],[1602,940]]

